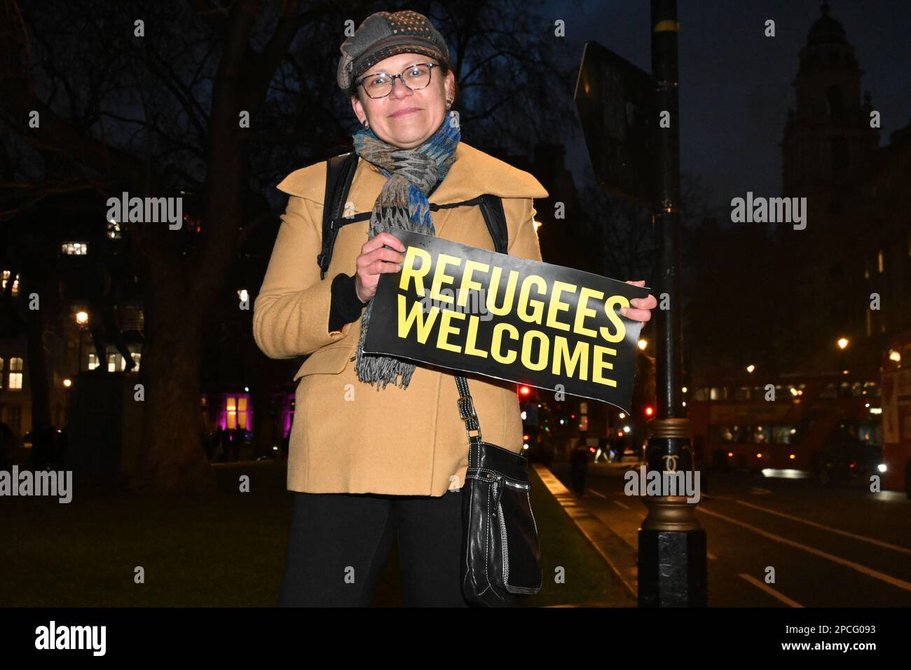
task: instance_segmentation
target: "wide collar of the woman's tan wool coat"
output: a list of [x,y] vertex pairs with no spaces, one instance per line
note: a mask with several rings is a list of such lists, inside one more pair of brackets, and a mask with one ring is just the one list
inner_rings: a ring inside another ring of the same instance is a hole
[[[276,187],[279,191],[297,195],[322,205],[325,197],[325,161],[294,170]],[[358,159],[352,189],[379,194],[386,178],[374,165]],[[518,170],[460,141],[455,146],[455,161],[449,167],[436,191],[428,201],[436,204],[471,200],[482,193],[501,198],[547,198],[548,191],[533,175]]]

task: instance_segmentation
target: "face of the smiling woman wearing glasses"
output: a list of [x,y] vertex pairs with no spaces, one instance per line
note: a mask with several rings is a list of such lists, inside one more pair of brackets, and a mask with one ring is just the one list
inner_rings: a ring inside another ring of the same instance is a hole
[[[357,78],[363,80],[363,77],[380,72],[398,75],[415,63],[436,62],[435,58],[422,54],[396,54],[384,58]],[[453,98],[454,84],[455,75],[452,72],[445,78],[440,77],[439,67],[434,67],[430,73],[430,84],[425,88],[413,91],[404,86],[401,78],[396,78],[388,96],[371,98],[363,86],[358,86],[357,98],[351,98],[351,104],[357,119],[362,125],[364,119],[369,121],[376,137],[402,149],[414,149],[429,139],[443,123],[446,98]],[[408,109],[414,111],[396,114]]]

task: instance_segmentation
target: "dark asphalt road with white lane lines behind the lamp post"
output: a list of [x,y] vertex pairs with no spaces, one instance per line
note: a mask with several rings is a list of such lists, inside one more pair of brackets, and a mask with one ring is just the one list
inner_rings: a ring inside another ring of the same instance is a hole
[[[630,464],[630,467],[632,465]],[[568,465],[553,473],[571,489]],[[622,466],[589,465],[589,511],[630,546],[645,506],[624,494]],[[697,507],[714,607],[911,605],[911,501],[905,493],[823,488],[814,479],[712,473]],[[769,568],[774,582],[767,582]]]

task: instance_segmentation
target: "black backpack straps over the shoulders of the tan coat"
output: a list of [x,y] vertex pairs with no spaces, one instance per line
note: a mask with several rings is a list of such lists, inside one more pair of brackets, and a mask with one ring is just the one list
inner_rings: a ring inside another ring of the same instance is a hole
[[[356,169],[357,154],[353,151],[341,156],[333,156],[333,158],[326,161],[326,194],[322,207],[322,253],[316,257],[316,262],[320,265],[320,279],[325,279],[329,263],[333,258],[335,238],[342,226],[370,219],[370,211],[363,211],[351,217],[343,216],[344,203],[348,198],[348,191],[351,190],[351,183]],[[431,202],[430,210],[448,210],[451,207],[471,205],[480,206],[484,222],[487,224],[487,231],[490,232],[490,237],[494,241],[496,252],[507,253],[509,243],[507,216],[506,212],[503,211],[503,201],[499,196],[485,193],[462,202],[447,202],[445,204]]]

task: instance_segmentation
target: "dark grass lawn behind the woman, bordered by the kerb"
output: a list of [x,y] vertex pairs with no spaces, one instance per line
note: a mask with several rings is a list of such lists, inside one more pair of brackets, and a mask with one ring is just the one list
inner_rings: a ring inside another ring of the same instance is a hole
[[[73,500],[0,499],[0,606],[271,607],[278,602],[291,523],[284,463],[218,466],[220,493],[139,497],[81,484]],[[248,474],[251,492],[237,491]],[[532,509],[544,588],[524,606],[617,602],[619,579],[537,478]],[[134,582],[135,570],[145,583]],[[554,582],[557,566],[566,583]],[[399,606],[398,556],[374,605]]]

